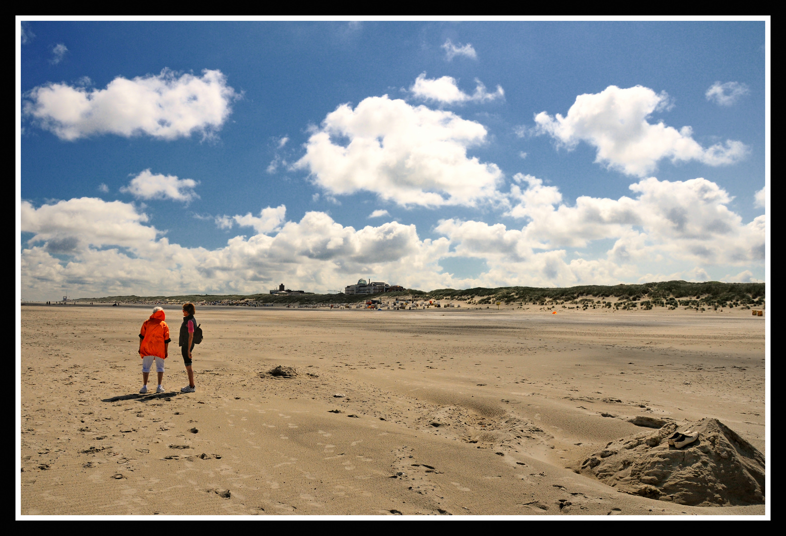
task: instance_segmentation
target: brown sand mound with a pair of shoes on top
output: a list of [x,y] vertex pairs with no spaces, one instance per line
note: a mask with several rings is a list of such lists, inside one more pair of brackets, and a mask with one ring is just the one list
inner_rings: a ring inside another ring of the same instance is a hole
[[[699,439],[676,449],[666,438],[675,430],[699,431]],[[618,439],[581,466],[618,490],[692,506],[764,503],[764,456],[717,419]]]

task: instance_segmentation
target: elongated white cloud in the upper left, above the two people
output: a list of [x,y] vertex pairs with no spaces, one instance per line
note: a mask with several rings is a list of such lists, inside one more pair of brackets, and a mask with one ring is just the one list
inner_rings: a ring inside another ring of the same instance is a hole
[[220,71],[202,76],[118,76],[104,90],[65,83],[35,87],[25,95],[24,115],[63,140],[98,134],[172,140],[198,132],[209,137],[221,129],[238,94]]

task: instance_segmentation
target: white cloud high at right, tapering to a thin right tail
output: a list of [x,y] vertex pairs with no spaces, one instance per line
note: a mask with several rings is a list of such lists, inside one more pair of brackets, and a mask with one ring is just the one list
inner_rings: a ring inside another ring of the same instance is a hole
[[599,94],[576,97],[565,117],[540,112],[534,120],[541,134],[549,134],[567,149],[586,141],[597,149],[597,163],[639,177],[654,171],[664,158],[720,166],[747,155],[741,141],[727,140],[704,149],[692,138],[691,127],[677,130],[662,121],[649,123],[652,112],[668,105],[667,94],[656,94],[648,87],[608,86]]

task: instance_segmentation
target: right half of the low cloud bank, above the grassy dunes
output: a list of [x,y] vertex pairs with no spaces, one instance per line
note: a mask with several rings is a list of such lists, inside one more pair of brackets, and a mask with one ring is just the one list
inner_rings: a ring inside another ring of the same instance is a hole
[[[727,207],[729,194],[704,178],[647,178],[630,185],[633,196],[579,196],[572,206],[542,179],[513,179],[506,215],[526,219],[522,228],[458,218],[435,228],[450,242],[448,256],[485,259],[489,266],[479,277],[454,281],[459,286],[612,285],[639,277],[705,281],[706,266],[755,266],[764,259],[764,216],[745,224]],[[581,253],[567,259],[566,248],[585,248],[593,240],[614,243],[595,259]],[[692,270],[652,272],[691,263]]]

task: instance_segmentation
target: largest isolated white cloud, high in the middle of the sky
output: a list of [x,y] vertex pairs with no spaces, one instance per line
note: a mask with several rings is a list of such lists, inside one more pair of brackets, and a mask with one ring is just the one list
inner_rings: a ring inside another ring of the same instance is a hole
[[330,112],[295,167],[334,195],[365,190],[404,206],[475,206],[498,198],[502,178],[494,163],[467,156],[486,134],[452,112],[368,97]]

